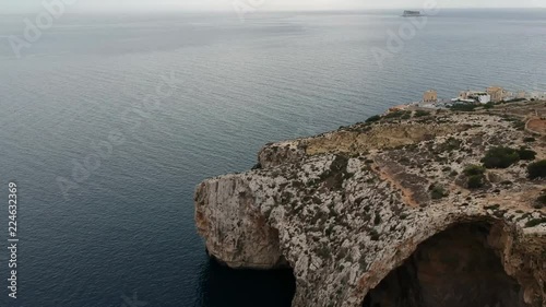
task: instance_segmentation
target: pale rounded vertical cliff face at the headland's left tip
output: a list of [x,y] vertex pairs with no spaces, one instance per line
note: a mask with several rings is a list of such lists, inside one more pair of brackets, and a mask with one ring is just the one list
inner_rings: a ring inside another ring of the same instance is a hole
[[198,231],[217,260],[232,268],[283,264],[278,232],[266,223],[244,178],[209,180],[198,188],[195,201]]

